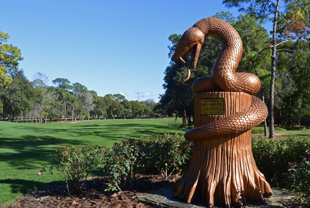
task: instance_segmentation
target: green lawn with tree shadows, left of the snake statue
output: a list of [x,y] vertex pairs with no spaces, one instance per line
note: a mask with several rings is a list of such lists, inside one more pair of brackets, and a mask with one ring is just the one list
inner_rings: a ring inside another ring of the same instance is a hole
[[[181,123],[179,119],[177,123]],[[97,120],[76,123],[31,124],[0,121],[0,206],[33,189],[64,184],[62,175],[38,176],[42,163],[51,164],[51,154],[64,145],[112,147],[122,139],[180,133],[186,130],[168,124],[174,119]]]

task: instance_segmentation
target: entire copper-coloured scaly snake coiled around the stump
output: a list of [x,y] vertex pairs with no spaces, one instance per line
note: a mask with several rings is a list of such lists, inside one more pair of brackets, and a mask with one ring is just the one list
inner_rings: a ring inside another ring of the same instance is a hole
[[193,63],[194,68],[197,65],[201,46],[206,36],[219,39],[222,50],[212,68],[211,76],[201,77],[193,82],[193,93],[245,92],[252,95],[252,104],[249,108],[236,114],[188,130],[184,135],[187,140],[212,139],[242,133],[259,125],[268,114],[263,101],[254,96],[261,87],[259,78],[252,73],[236,73],[242,57],[242,42],[237,31],[223,20],[213,17],[204,18],[187,29],[181,36],[171,60],[175,62],[180,60],[185,64],[183,58],[193,51],[188,63],[188,76],[184,82],[190,78],[191,64]]

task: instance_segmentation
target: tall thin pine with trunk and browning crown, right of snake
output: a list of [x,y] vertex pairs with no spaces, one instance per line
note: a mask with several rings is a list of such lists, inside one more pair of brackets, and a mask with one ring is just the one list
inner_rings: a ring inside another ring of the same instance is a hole
[[[274,94],[276,80],[277,46],[296,39],[309,38],[309,2],[305,0],[223,0],[228,8],[238,7],[262,21],[271,21],[272,30],[270,43],[266,49],[271,49],[271,77],[269,87],[269,138],[274,135]],[[285,8],[280,11],[280,7]],[[285,38],[285,39],[283,39]]]

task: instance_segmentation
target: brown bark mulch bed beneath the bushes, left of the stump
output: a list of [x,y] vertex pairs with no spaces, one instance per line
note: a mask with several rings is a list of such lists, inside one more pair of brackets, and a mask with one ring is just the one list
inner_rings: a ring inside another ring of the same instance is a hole
[[85,190],[79,197],[69,196],[66,185],[49,186],[0,208],[152,208],[139,202],[137,195],[167,186],[178,178],[179,176],[175,175],[166,181],[159,175],[142,175],[135,178],[131,191],[115,193],[104,191],[107,187],[105,178],[95,177],[87,180]]

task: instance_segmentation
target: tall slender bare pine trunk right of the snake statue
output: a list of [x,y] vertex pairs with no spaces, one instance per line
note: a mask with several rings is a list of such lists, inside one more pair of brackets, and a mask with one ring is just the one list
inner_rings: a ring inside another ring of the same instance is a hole
[[276,79],[276,41],[277,41],[277,20],[279,13],[280,0],[277,0],[276,10],[273,18],[272,29],[272,55],[271,55],[271,79],[270,79],[270,91],[269,91],[269,138],[274,138],[274,82]]

